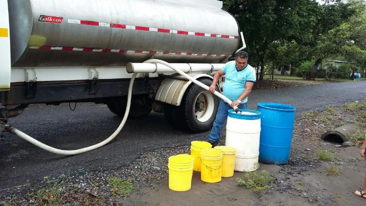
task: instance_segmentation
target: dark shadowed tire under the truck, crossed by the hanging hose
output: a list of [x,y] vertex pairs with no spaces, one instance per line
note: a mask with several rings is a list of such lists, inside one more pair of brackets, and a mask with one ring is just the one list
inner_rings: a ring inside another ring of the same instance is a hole
[[[123,117],[126,112],[127,99],[113,100],[107,103],[109,110],[119,117]],[[129,118],[142,118],[150,114],[152,108],[149,106],[141,106],[139,104],[131,102]]]

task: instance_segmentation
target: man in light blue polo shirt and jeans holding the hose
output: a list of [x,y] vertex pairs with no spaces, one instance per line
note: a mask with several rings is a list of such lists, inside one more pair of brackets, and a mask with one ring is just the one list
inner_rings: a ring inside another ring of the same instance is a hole
[[213,93],[215,91],[217,81],[224,74],[223,95],[229,98],[232,104],[229,105],[224,100],[220,101],[216,119],[208,138],[212,147],[215,147],[219,143],[221,129],[227,120],[228,110],[234,106],[238,106],[240,109],[247,108],[248,95],[251,92],[254,82],[257,80],[254,68],[248,65],[248,54],[244,51],[236,53],[235,61],[226,63],[222,70],[217,71],[213,77],[212,85],[209,88],[210,92]]

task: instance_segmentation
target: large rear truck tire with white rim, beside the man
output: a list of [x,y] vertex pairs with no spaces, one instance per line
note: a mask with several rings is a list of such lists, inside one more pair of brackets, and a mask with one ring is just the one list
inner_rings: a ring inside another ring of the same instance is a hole
[[[198,80],[210,86],[212,80]],[[216,91],[219,88],[216,87]],[[164,116],[174,128],[191,133],[207,132],[212,128],[220,98],[206,89],[192,84],[184,93],[180,106],[164,107]],[[167,110],[165,110],[167,109]]]

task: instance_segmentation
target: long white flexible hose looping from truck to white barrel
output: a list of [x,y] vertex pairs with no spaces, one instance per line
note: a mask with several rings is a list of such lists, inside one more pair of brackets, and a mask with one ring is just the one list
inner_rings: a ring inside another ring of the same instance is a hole
[[[209,90],[209,87],[197,80],[195,80],[194,78],[192,78],[191,76],[189,76],[188,74],[184,73],[183,71],[173,67],[171,64],[169,64],[168,62],[165,62],[163,60],[160,59],[149,59],[146,60],[143,63],[160,63],[163,64],[165,66],[171,67],[173,70],[177,71],[177,73],[183,75],[184,77],[186,77],[188,80],[192,81],[193,83],[199,85],[200,87]],[[123,119],[121,124],[118,126],[118,128],[115,130],[115,132],[113,132],[113,134],[111,136],[109,136],[107,139],[105,139],[104,141],[98,143],[98,144],[94,144],[92,146],[89,147],[85,147],[85,148],[81,148],[78,150],[60,150],[51,146],[48,146],[44,143],[41,143],[40,141],[34,139],[33,137],[27,135],[26,133],[12,127],[11,125],[5,125],[5,128],[7,128],[11,133],[14,133],[15,135],[21,137],[22,139],[29,141],[30,143],[34,144],[37,147],[40,147],[46,151],[55,153],[55,154],[60,154],[60,155],[75,155],[75,154],[81,154],[84,152],[88,152],[91,150],[95,150],[96,148],[102,147],[105,144],[109,143],[110,141],[112,141],[117,135],[118,133],[122,130],[124,124],[126,123],[127,117],[128,117],[128,113],[130,112],[130,106],[131,106],[131,96],[132,96],[132,87],[135,81],[135,78],[137,76],[138,73],[134,73],[131,77],[130,80],[130,85],[128,87],[128,95],[127,95],[127,106],[126,106],[126,111],[124,113]],[[223,99],[225,102],[227,102],[228,104],[231,104],[231,100],[229,100],[227,97],[225,97],[224,95],[222,95],[220,92],[215,91],[214,95],[218,96],[219,98]],[[235,111],[238,111],[238,107],[234,107]]]

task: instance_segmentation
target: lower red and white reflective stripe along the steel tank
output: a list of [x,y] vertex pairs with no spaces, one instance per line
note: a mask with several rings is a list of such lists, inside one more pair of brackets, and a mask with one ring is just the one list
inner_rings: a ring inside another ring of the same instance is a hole
[[63,50],[63,51],[88,51],[88,52],[116,52],[127,54],[164,54],[164,55],[188,55],[188,56],[231,56],[229,54],[203,54],[192,52],[162,52],[162,51],[142,51],[142,50],[127,50],[127,49],[94,49],[94,48],[78,48],[78,47],[29,47],[31,49],[44,49],[44,50]]

